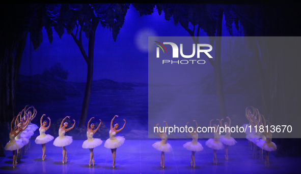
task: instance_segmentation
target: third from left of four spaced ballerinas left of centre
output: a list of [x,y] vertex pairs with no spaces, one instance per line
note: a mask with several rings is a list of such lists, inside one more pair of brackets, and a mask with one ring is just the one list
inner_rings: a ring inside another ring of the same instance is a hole
[[93,130],[93,128],[95,127],[95,124],[92,123],[91,124],[91,128],[89,128],[89,124],[91,122],[91,120],[94,119],[94,117],[92,117],[89,122],[88,122],[88,125],[87,125],[87,137],[88,137],[88,140],[86,140],[84,143],[83,143],[83,148],[84,149],[89,149],[90,150],[90,161],[89,161],[89,166],[91,166],[91,160],[92,160],[92,163],[93,163],[93,166],[94,166],[94,153],[93,153],[93,149],[96,148],[97,146],[100,146],[102,144],[102,141],[100,138],[93,138],[93,135],[94,133],[99,129],[100,127],[100,124],[101,124],[101,120],[99,119],[100,123],[98,125],[98,127]]

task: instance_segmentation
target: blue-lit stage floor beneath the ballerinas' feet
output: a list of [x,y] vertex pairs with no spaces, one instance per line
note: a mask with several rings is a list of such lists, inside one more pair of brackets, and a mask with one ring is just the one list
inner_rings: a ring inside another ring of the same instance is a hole
[[[152,144],[156,140],[126,140],[117,149],[116,165],[112,167],[110,149],[94,149],[95,166],[89,166],[90,152],[81,148],[84,140],[75,140],[66,147],[67,163],[62,163],[62,148],[51,143],[46,145],[46,158],[42,161],[41,145],[31,140],[31,147],[22,156],[21,163],[12,167],[12,152],[5,151],[6,157],[0,158],[0,173],[301,173],[300,157],[275,157],[276,152],[269,153],[270,167],[259,160],[259,153],[253,157],[247,140],[237,140],[235,146],[229,147],[229,160],[225,151],[217,151],[218,164],[213,164],[213,150],[205,146],[205,140],[199,142],[204,147],[196,152],[195,168],[190,167],[191,152],[183,148],[185,140],[169,140],[173,152],[165,153],[165,168],[160,167],[161,152]],[[257,151],[258,152],[258,151]]]

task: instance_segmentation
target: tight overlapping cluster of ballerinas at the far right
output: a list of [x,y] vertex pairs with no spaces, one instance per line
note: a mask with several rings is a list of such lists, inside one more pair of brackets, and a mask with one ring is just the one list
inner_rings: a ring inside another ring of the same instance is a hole
[[[275,143],[271,142],[272,134],[269,129],[269,126],[265,127],[266,122],[268,122],[268,120],[265,120],[264,116],[259,113],[258,109],[252,106],[245,108],[245,117],[249,120],[249,124],[244,124],[242,127],[247,126],[247,130],[245,131],[245,137],[249,141],[251,150],[253,150],[253,155],[256,155],[258,146],[261,149],[261,151],[259,151],[260,159],[263,160],[263,150],[265,150],[266,155],[264,163],[267,167],[269,167],[268,153],[271,151],[276,151],[277,146]],[[249,127],[250,125],[251,129]],[[264,127],[260,130],[260,126]],[[255,128],[257,129],[257,131],[255,131]]]

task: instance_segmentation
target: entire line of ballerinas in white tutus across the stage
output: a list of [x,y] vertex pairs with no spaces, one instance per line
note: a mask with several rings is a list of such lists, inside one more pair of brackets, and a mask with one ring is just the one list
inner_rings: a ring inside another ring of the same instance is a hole
[[[37,111],[36,109],[32,106],[29,107],[28,109],[26,109],[29,106],[26,106],[22,112],[20,112],[18,114],[17,117],[15,117],[13,119],[13,121],[11,122],[11,132],[9,134],[10,137],[10,142],[7,143],[7,145],[5,146],[5,150],[10,150],[13,151],[13,167],[16,167],[17,162],[20,162],[20,157],[21,157],[21,152],[22,152],[22,148],[26,145],[29,144],[30,142],[30,138],[31,136],[34,134],[34,131],[38,128],[37,125],[32,124],[31,121],[36,117]],[[32,114],[31,111],[29,111],[30,109],[34,110],[34,113]],[[253,110],[253,113],[252,111]],[[22,117],[23,115],[23,117]],[[36,138],[35,143],[36,144],[41,144],[42,146],[42,151],[43,151],[43,155],[42,155],[42,160],[45,159],[46,155],[45,155],[45,149],[46,149],[46,143],[50,142],[53,140],[53,136],[49,135],[49,134],[45,134],[45,131],[49,129],[50,127],[50,118],[48,117],[49,120],[49,124],[47,121],[43,121],[43,117],[45,116],[42,115],[41,119],[40,119],[40,135]],[[18,119],[18,117],[20,117],[20,121]],[[125,126],[125,119],[124,120],[124,125],[122,128],[118,129],[119,124],[116,123],[113,127],[113,121],[114,119],[118,117],[117,115],[114,116],[114,118],[111,121],[111,126],[110,126],[110,138],[108,138],[105,143],[104,143],[104,147],[111,149],[112,152],[112,158],[113,158],[113,168],[115,168],[115,158],[116,158],[116,150],[118,147],[120,147],[121,145],[123,145],[125,138],[123,136],[115,136],[116,133],[118,133],[119,131],[121,131],[124,126]],[[271,138],[272,135],[270,133],[269,128],[264,127],[263,132],[260,133],[259,129],[260,126],[266,125],[266,121],[263,115],[261,115],[258,111],[258,109],[254,108],[254,107],[247,107],[245,109],[245,117],[249,120],[249,124],[245,124],[243,125],[243,127],[247,126],[247,130],[245,131],[246,133],[246,138],[249,140],[249,144],[251,146],[251,150],[254,151],[254,153],[256,154],[256,147],[258,146],[259,148],[262,149],[261,151],[261,159],[263,159],[263,155],[262,152],[263,150],[266,151],[266,158],[265,158],[265,164],[267,166],[269,166],[269,158],[268,158],[268,153],[270,151],[276,151],[277,150],[277,146],[275,145],[275,143],[271,142]],[[257,119],[258,117],[258,119]],[[67,150],[66,150],[66,146],[70,145],[72,143],[72,136],[65,136],[65,133],[69,130],[71,130],[74,126],[75,126],[75,120],[73,119],[74,124],[72,125],[72,127],[67,128],[68,126],[68,122],[64,122],[66,118],[70,118],[69,116],[65,117],[60,125],[59,128],[59,136],[54,140],[53,145],[57,146],[57,147],[62,147],[63,148],[63,163],[67,162]],[[101,120],[99,119],[100,123],[98,125],[98,127],[94,130],[95,128],[95,124],[92,123],[90,125],[91,120],[94,119],[94,117],[92,117],[87,125],[87,138],[88,140],[86,140],[83,143],[83,148],[84,149],[89,149],[90,150],[90,160],[89,160],[89,166],[91,166],[91,162],[94,166],[95,160],[94,160],[94,153],[93,153],[93,149],[100,146],[102,144],[102,141],[100,138],[93,138],[93,135],[95,134],[95,132],[99,129],[100,124],[101,124]],[[229,120],[228,122],[225,122],[224,125],[226,127],[231,128],[231,119],[229,117],[227,117],[227,119]],[[13,122],[15,120],[15,126],[12,127]],[[222,127],[222,121],[224,119],[216,119],[216,121],[219,122],[219,126]],[[211,127],[211,122],[213,120],[210,120],[210,127]],[[152,146],[156,149],[161,151],[161,161],[160,161],[160,165],[162,168],[165,167],[165,152],[171,152],[172,151],[172,146],[167,143],[167,133],[166,130],[168,129],[168,125],[166,121],[163,121],[166,124],[166,129],[163,130],[160,127],[160,132],[157,131],[157,134],[160,136],[161,138],[161,142],[156,142],[154,143]],[[186,150],[191,151],[191,161],[190,161],[190,165],[191,167],[195,167],[196,166],[196,161],[195,161],[195,153],[202,151],[204,148],[203,146],[198,142],[198,133],[197,133],[197,128],[198,128],[198,123],[196,120],[194,120],[194,122],[196,122],[196,127],[194,128],[194,130],[192,132],[189,132],[189,134],[192,136],[193,141],[191,142],[187,142],[183,145],[183,147]],[[188,125],[189,122],[187,122],[186,126]],[[47,126],[48,124],[48,126]],[[159,125],[159,123],[156,125],[156,127]],[[250,126],[251,125],[251,129]],[[90,126],[90,127],[89,127]],[[258,131],[255,131],[255,126],[257,126]],[[209,138],[208,141],[206,141],[205,145],[211,149],[213,149],[213,163],[217,164],[217,158],[216,158],[216,151],[217,150],[222,150],[225,148],[225,158],[226,160],[229,159],[228,156],[228,148],[229,146],[233,146],[235,145],[237,142],[234,140],[233,137],[231,137],[231,131],[229,131],[229,129],[225,129],[226,134],[225,135],[220,135],[220,130],[217,129],[216,124],[213,124],[213,127],[215,130],[213,132],[214,138]],[[17,155],[16,155],[16,150],[17,150]]]

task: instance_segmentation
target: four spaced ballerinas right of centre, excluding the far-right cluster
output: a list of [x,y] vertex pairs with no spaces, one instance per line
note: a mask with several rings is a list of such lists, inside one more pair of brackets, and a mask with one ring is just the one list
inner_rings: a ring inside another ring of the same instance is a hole
[[[227,122],[225,122],[225,126],[226,127],[230,127],[231,126],[231,119],[229,117],[227,117],[227,119],[229,120],[229,124]],[[224,119],[216,119],[217,121],[219,121],[220,123],[220,126],[223,126],[222,125],[222,121]],[[211,122],[213,120],[210,121],[210,127],[211,127]],[[168,129],[168,125],[167,125],[167,122],[166,121],[163,121],[165,122],[166,124],[166,129]],[[191,167],[196,167],[196,161],[195,161],[195,153],[196,152],[199,152],[199,151],[202,151],[204,148],[203,146],[198,142],[198,138],[199,138],[199,135],[198,135],[198,132],[196,131],[197,128],[198,128],[198,123],[196,120],[194,120],[194,122],[196,122],[196,127],[194,127],[193,131],[192,132],[189,132],[189,134],[191,135],[191,137],[193,138],[193,141],[191,142],[187,142],[183,145],[183,147],[186,149],[186,150],[189,150],[191,151],[191,161],[190,161],[190,165]],[[189,122],[187,122],[186,126],[188,125]],[[159,125],[159,123],[156,125],[156,127]],[[217,129],[217,126],[216,124],[213,125],[214,129],[215,130],[213,132],[213,135],[214,135],[214,138],[210,138],[206,143],[205,145],[211,149],[213,149],[213,163],[214,164],[217,164],[217,159],[216,159],[216,151],[217,150],[221,150],[221,149],[224,149],[225,147],[225,158],[226,160],[229,159],[228,157],[228,148],[229,146],[233,146],[235,145],[237,142],[234,140],[233,137],[231,137],[231,131],[227,131],[229,129],[226,129],[226,135],[220,135],[220,132],[219,132],[219,129]],[[158,130],[158,129],[157,129]],[[154,143],[152,146],[158,150],[158,151],[161,151],[161,161],[160,161],[160,165],[162,168],[165,167],[165,152],[171,152],[172,151],[172,146],[167,143],[167,134],[166,134],[166,131],[163,130],[161,127],[160,127],[160,133],[157,131],[157,134],[160,136],[161,138],[161,142],[156,142]]]

